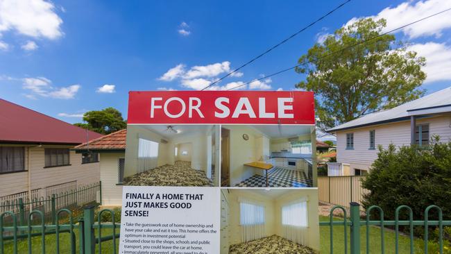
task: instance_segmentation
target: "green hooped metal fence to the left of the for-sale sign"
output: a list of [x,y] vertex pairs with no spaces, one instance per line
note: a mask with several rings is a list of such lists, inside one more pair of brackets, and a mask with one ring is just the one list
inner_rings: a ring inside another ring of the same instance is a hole
[[[94,254],[106,253],[102,247],[103,242],[110,242],[110,253],[117,253],[117,239],[119,239],[120,223],[114,221],[114,212],[109,209],[101,210],[98,213],[99,219],[94,220],[95,206],[84,208],[83,217],[74,220],[72,212],[68,209],[60,209],[56,212],[56,223],[46,224],[44,222],[44,213],[40,210],[34,210],[28,214],[26,225],[20,225],[17,220],[17,214],[13,212],[3,212],[0,214],[0,254],[17,253],[80,253]],[[112,221],[108,223],[101,222],[101,215],[110,213]],[[62,214],[66,214],[68,219],[62,219]],[[5,225],[4,218],[8,216],[12,220],[9,225]],[[67,223],[60,223],[67,221]],[[110,230],[107,235],[103,231]],[[65,242],[62,242],[62,236],[65,235]],[[49,242],[46,239],[52,237],[55,241],[53,248],[46,246]],[[33,241],[38,239],[39,241]],[[35,246],[39,242],[38,246]],[[35,245],[33,245],[35,244]],[[65,250],[61,251],[62,246]],[[24,252],[24,250],[26,251]]]

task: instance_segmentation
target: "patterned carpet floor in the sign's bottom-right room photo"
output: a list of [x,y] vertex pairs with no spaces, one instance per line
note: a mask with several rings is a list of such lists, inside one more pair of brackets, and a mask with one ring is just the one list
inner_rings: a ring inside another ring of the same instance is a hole
[[312,248],[296,244],[278,235],[264,237],[242,244],[232,244],[230,254],[311,254],[318,253]]

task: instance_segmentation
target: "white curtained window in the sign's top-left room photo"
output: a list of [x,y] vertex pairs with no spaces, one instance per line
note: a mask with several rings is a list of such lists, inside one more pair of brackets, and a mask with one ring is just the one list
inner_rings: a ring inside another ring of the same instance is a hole
[[154,169],[158,166],[158,142],[139,138],[138,172]]

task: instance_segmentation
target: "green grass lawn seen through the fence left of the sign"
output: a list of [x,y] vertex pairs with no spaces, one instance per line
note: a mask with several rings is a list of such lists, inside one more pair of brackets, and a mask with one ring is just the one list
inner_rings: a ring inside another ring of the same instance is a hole
[[[74,229],[76,238],[76,253],[79,252],[79,237],[78,229]],[[116,229],[119,232],[119,228]],[[96,237],[98,236],[98,230],[96,230]],[[102,237],[112,235],[112,229],[102,229]],[[32,251],[31,253],[42,253],[41,237],[33,237],[31,240]],[[57,253],[56,252],[56,235],[45,236],[45,253]],[[4,253],[13,253],[12,241],[7,241],[5,244]],[[119,253],[119,238],[116,239],[116,251]],[[0,251],[1,252],[1,251]],[[17,253],[28,253],[28,239],[21,239],[17,243]],[[71,253],[71,242],[69,233],[60,234],[60,253]],[[96,245],[96,253],[99,253],[99,245]],[[110,254],[112,252],[112,240],[108,242],[102,242],[102,253]]]

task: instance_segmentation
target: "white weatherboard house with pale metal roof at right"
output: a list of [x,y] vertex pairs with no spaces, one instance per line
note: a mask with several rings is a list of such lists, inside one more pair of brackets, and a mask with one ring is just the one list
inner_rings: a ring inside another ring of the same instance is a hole
[[424,146],[433,135],[451,141],[451,87],[327,131],[337,135],[337,163],[327,164],[328,176],[364,175],[377,158],[378,146]]

